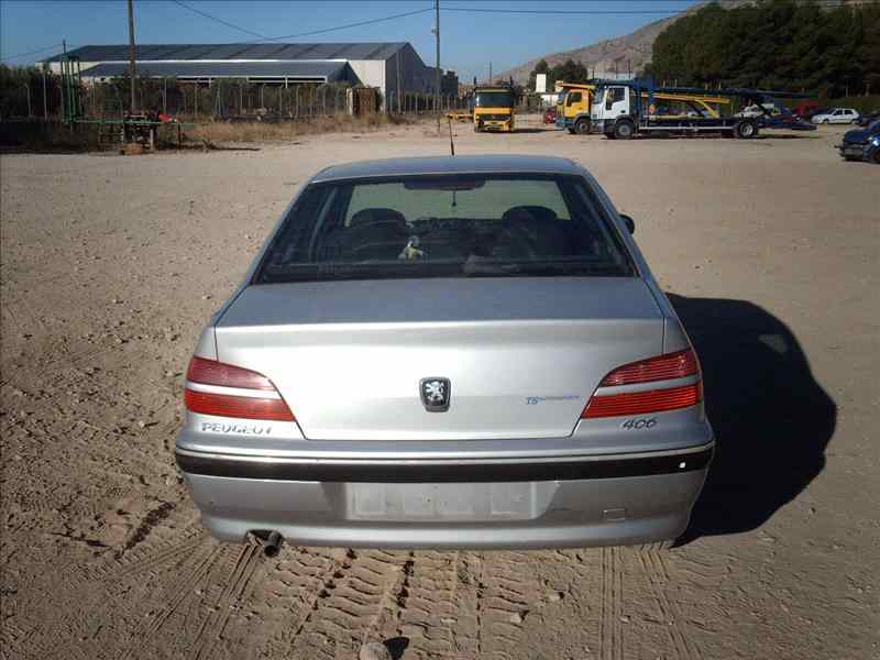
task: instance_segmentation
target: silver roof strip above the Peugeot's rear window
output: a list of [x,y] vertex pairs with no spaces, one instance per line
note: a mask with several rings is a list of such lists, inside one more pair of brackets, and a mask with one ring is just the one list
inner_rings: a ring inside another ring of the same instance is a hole
[[566,174],[583,175],[574,161],[557,156],[421,156],[360,161],[333,165],[319,172],[312,183],[350,178],[431,174]]

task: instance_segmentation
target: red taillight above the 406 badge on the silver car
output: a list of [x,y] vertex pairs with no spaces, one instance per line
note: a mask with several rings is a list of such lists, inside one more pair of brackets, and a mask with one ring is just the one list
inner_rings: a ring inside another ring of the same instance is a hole
[[[614,392],[622,385],[636,385],[654,381],[674,381],[696,376],[696,382],[685,385],[670,383],[666,387],[638,392]],[[703,400],[700,362],[693,349],[658,355],[617,367],[605,376],[590,398],[582,419],[596,417],[625,417],[663,413],[695,406]]]

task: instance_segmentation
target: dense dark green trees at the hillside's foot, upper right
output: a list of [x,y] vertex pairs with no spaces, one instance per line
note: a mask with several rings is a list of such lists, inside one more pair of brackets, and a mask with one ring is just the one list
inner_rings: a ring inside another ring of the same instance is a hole
[[708,4],[657,37],[650,73],[678,85],[876,92],[880,7],[828,9],[794,0],[732,9]]

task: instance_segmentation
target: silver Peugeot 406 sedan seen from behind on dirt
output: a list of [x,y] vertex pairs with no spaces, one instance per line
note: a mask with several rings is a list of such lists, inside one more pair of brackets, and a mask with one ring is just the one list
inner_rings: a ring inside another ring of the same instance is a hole
[[176,458],[211,534],[667,541],[714,437],[694,350],[572,161],[330,167],[201,333]]

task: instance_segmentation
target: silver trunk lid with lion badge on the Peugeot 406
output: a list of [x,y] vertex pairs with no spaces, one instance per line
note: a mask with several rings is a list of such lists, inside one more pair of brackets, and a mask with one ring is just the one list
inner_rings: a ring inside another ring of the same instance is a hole
[[[605,374],[662,352],[663,319],[632,277],[311,282],[246,287],[216,337],[309,439],[551,438]],[[447,410],[425,378],[449,380]]]

